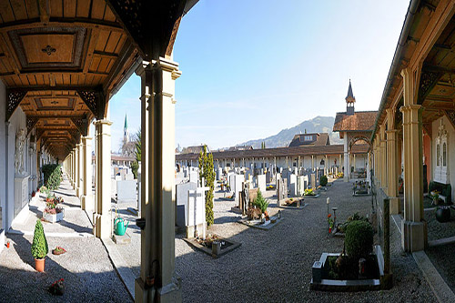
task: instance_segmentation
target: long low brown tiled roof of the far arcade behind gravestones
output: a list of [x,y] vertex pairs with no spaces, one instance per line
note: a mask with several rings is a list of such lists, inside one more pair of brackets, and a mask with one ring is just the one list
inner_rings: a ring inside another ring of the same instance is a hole
[[[366,154],[369,146],[366,144],[356,144],[352,146],[353,154]],[[248,158],[248,157],[298,157],[298,156],[319,156],[319,155],[341,155],[344,152],[343,145],[333,146],[297,146],[297,147],[278,147],[250,150],[236,150],[213,152],[213,158]],[[176,155],[176,160],[197,160],[198,154],[180,154]]]

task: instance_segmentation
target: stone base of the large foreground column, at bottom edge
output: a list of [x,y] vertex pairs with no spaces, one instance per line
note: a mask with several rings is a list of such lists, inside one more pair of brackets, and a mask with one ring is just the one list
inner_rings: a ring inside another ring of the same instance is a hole
[[174,273],[172,282],[162,288],[146,286],[142,278],[135,280],[135,302],[181,302],[181,278]]

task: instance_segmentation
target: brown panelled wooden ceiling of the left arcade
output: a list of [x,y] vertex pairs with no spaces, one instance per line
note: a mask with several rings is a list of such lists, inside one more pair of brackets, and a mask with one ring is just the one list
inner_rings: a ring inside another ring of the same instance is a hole
[[0,1],[7,119],[21,106],[28,131],[35,127],[55,157],[66,157],[90,121],[106,114],[110,92],[137,57],[105,0]]

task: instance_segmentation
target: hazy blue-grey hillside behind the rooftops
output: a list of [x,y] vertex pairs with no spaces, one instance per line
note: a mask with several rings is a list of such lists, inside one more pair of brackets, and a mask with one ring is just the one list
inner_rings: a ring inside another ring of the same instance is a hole
[[288,146],[294,135],[307,133],[329,133],[330,144],[342,144],[339,139],[339,133],[332,133],[333,116],[317,116],[311,120],[303,121],[298,126],[281,130],[277,135],[268,136],[266,138],[249,140],[239,144],[239,146],[248,145],[253,148],[260,148],[262,142],[266,142],[266,147],[283,147]]

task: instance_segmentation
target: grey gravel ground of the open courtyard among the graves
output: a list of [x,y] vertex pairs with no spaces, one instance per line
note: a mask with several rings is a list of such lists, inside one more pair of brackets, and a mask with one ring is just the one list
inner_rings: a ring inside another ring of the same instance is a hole
[[[395,286],[387,291],[329,293],[309,290],[311,266],[322,252],[340,252],[343,239],[327,234],[327,204],[338,207],[339,222],[354,212],[366,216],[371,197],[352,197],[352,184],[335,181],[321,197],[306,199],[303,210],[283,210],[285,220],[268,231],[236,223],[234,202],[215,202],[210,232],[242,243],[218,259],[188,247],[177,235],[176,270],[185,302],[435,302],[436,298],[410,255],[402,255],[399,233],[391,228]],[[267,195],[269,197],[269,194]],[[273,214],[274,199],[270,199]]]

